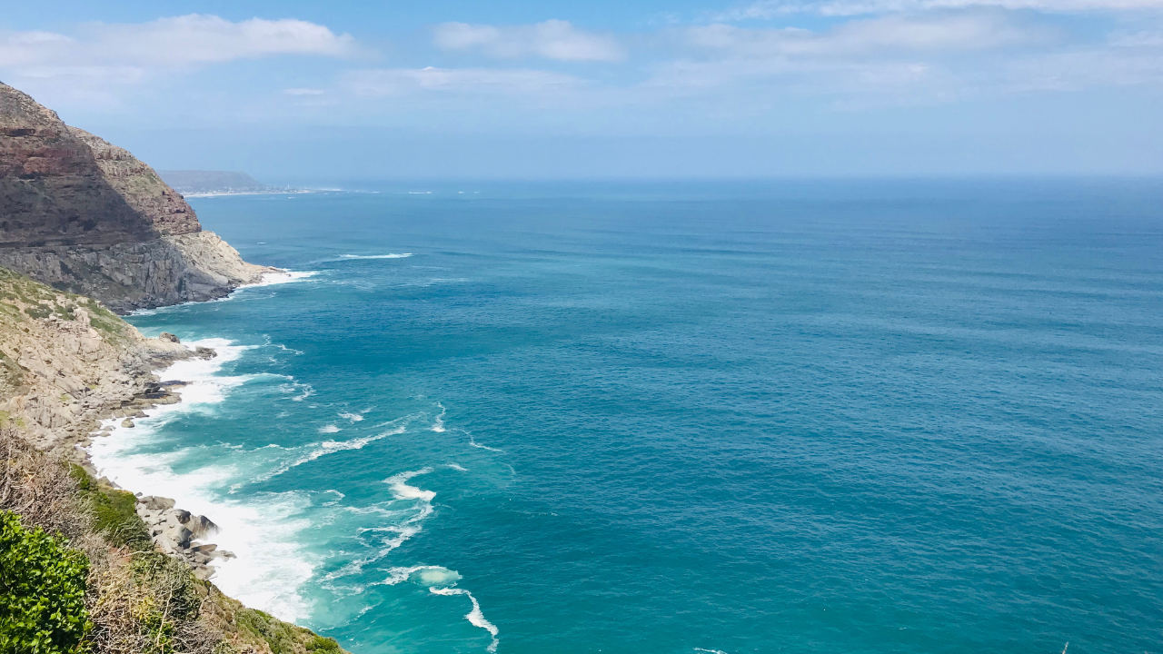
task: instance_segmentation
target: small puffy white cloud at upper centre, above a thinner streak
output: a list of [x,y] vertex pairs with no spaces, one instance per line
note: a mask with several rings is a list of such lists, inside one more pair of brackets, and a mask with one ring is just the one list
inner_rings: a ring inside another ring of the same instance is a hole
[[626,52],[612,35],[575,28],[568,21],[531,26],[442,23],[434,43],[442,50],[477,50],[488,57],[543,57],[561,62],[619,62]]

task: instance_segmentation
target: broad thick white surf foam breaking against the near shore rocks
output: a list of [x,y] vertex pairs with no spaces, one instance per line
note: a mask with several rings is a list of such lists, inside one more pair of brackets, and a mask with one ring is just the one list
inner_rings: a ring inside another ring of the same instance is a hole
[[[183,401],[160,405],[147,411],[133,428],[121,427],[120,420],[105,420],[113,427],[107,438],[90,446],[93,465],[100,475],[117,485],[145,495],[173,498],[181,509],[213,520],[220,531],[213,542],[233,552],[237,559],[215,560],[214,582],[223,592],[248,606],[262,609],[286,620],[309,617],[309,606],[298,589],[306,583],[317,564],[301,546],[299,533],[311,527],[297,516],[311,504],[299,492],[269,493],[248,502],[221,499],[216,489],[238,478],[237,456],[222,457],[230,463],[209,464],[191,471],[176,472],[174,465],[197,456],[199,448],[185,448],[165,455],[142,453],[159,428],[188,412],[213,411],[251,376],[216,376],[222,367],[250,349],[223,339],[192,341],[187,347],[212,347],[217,356],[211,360],[179,361],[160,371],[164,378],[181,379],[187,385],[178,390]],[[230,446],[224,447],[236,452]]]

